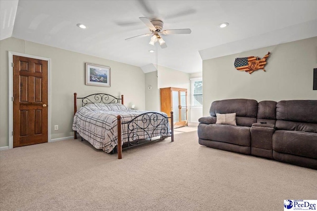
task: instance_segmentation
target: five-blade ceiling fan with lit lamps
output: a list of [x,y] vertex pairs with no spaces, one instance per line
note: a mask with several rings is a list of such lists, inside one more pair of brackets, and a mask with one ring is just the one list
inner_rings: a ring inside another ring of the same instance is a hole
[[173,35],[173,34],[190,34],[192,31],[190,29],[171,29],[171,30],[163,30],[163,21],[159,19],[153,19],[150,20],[146,17],[139,17],[140,20],[149,27],[151,33],[150,34],[144,34],[144,35],[138,35],[132,38],[125,39],[126,41],[132,40],[134,38],[143,38],[147,36],[152,36],[151,41],[149,44],[154,45],[156,42],[159,42],[159,45],[161,48],[167,47],[165,41],[162,39],[160,34],[163,35]]

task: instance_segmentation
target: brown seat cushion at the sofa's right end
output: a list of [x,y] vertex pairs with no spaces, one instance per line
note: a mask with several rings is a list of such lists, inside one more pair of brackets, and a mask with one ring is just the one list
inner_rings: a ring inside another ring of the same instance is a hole
[[317,159],[317,134],[277,130],[273,133],[272,147],[275,152]]

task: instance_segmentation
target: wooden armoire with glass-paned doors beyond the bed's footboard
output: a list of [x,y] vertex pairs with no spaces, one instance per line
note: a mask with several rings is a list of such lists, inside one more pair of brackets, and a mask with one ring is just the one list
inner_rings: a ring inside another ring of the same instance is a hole
[[187,89],[160,88],[160,110],[167,116],[173,111],[174,128],[187,126]]

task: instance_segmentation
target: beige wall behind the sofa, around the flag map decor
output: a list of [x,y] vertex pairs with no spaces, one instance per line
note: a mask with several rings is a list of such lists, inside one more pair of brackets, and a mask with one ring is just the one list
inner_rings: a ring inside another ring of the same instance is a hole
[[[266,72],[251,75],[234,68],[237,57],[263,57],[271,52]],[[220,99],[262,100],[317,99],[313,69],[317,68],[317,37],[288,42],[203,61],[204,116],[211,102]]]

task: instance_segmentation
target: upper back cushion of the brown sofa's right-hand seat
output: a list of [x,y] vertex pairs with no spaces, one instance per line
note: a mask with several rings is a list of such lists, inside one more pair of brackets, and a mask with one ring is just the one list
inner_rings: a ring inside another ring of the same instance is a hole
[[276,104],[277,120],[317,123],[316,114],[317,100],[282,100]]

